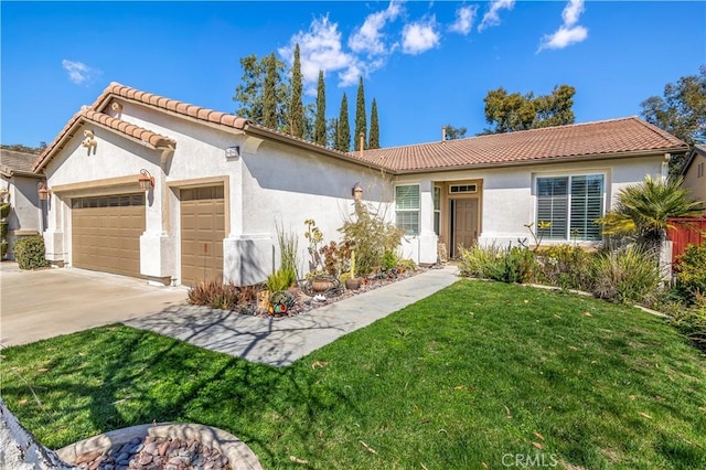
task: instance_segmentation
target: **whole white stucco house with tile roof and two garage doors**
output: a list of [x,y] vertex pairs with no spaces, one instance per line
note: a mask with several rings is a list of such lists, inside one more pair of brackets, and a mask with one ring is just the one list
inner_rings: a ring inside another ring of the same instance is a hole
[[629,117],[343,153],[114,83],[33,170],[51,189],[52,263],[247,285],[278,263],[276,224],[300,235],[302,267],[304,220],[339,238],[353,188],[406,231],[404,257],[432,264],[439,241],[516,243],[537,221],[552,223],[545,243],[600,242],[592,221],[618,191],[685,151]]

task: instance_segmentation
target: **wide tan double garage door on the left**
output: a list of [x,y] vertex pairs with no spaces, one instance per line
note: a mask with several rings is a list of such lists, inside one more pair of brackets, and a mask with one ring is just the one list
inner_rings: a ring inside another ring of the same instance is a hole
[[145,194],[74,197],[71,205],[73,265],[139,276]]

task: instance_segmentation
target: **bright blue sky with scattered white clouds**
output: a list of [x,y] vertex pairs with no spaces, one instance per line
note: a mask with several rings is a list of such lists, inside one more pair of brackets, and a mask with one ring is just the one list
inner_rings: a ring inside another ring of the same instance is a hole
[[[110,82],[234,113],[239,58],[293,43],[327,115],[357,77],[381,145],[485,126],[483,97],[576,87],[576,121],[638,115],[706,64],[706,2],[14,2],[1,6],[2,143],[50,142]],[[306,99],[313,100],[313,96]]]

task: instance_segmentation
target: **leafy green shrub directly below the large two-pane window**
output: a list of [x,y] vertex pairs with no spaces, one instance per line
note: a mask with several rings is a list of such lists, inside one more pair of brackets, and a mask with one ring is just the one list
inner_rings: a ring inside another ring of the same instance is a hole
[[596,256],[567,244],[542,248],[536,253],[534,278],[548,286],[591,291],[596,284]]

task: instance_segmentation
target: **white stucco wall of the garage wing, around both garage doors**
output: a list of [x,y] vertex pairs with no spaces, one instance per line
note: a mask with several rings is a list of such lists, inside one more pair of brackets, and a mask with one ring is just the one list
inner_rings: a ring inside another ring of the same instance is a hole
[[[76,136],[47,164],[54,191],[45,232],[47,257],[72,260],[71,197],[95,193],[137,192],[137,175],[147,169],[156,186],[147,193],[146,232],[140,237],[140,271],[150,280],[180,284],[179,189],[182,185],[225,182],[228,207],[224,239],[224,277],[236,284],[265,280],[279,264],[276,224],[298,236],[301,275],[307,271],[307,218],[317,221],[325,241],[339,241],[338,228],[351,210],[351,190],[360,182],[365,199],[391,200],[388,183],[374,170],[277,142],[267,142],[233,129],[224,130],[125,103],[115,117],[176,141],[167,164],[162,152],[113,131],[84,124]],[[83,130],[97,140],[95,152],[81,147]],[[225,149],[240,147],[239,158]],[[104,185],[117,178],[133,183]],[[72,189],[76,183],[96,182]],[[68,188],[68,190],[62,190]]]

